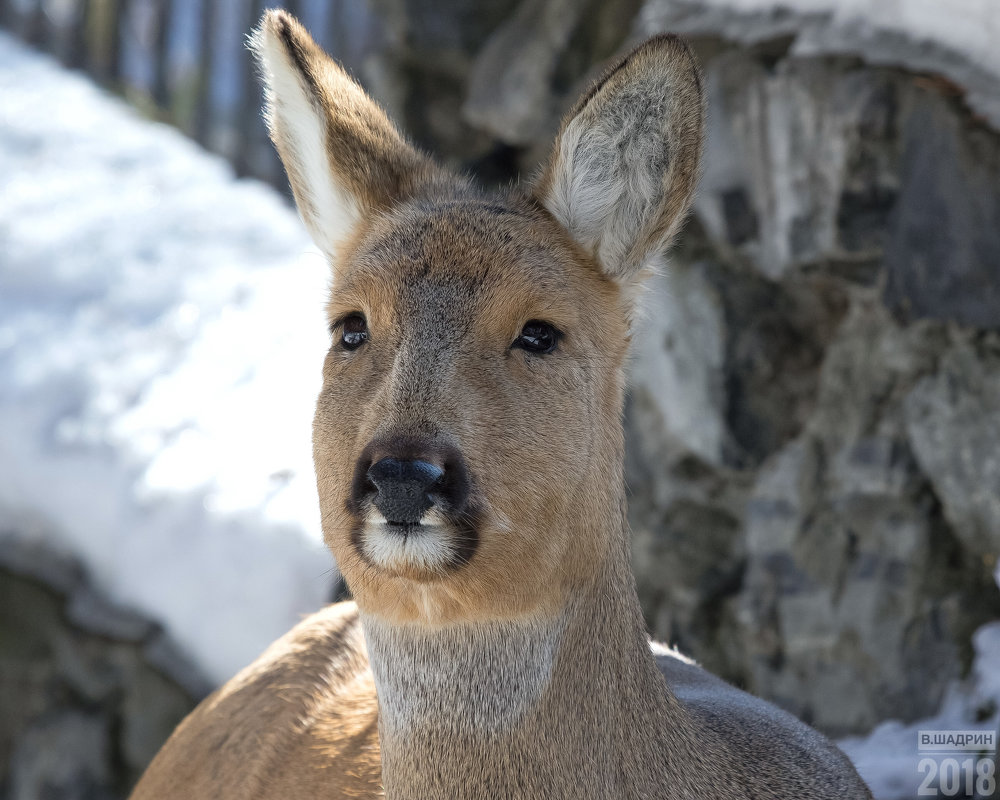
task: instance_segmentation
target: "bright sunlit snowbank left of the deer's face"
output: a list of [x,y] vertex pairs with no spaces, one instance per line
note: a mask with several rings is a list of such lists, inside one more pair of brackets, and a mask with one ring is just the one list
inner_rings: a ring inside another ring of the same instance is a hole
[[294,211],[0,35],[0,529],[211,680],[328,598],[327,269]]

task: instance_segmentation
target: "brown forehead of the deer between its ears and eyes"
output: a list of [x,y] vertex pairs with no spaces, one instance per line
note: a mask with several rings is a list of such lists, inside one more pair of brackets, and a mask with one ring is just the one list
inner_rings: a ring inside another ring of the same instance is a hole
[[488,201],[416,202],[371,222],[338,269],[332,321],[512,336],[529,319],[584,332],[613,317],[618,287],[544,212]]

